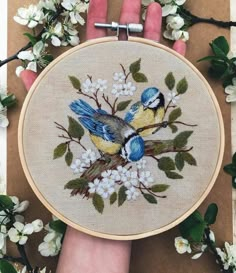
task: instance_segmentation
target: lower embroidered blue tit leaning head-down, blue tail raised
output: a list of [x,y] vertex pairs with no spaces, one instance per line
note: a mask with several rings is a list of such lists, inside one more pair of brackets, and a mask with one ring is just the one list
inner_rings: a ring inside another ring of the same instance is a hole
[[93,144],[102,153],[120,154],[128,161],[138,161],[144,156],[144,140],[123,119],[95,110],[81,99],[72,102],[70,109],[79,116]]

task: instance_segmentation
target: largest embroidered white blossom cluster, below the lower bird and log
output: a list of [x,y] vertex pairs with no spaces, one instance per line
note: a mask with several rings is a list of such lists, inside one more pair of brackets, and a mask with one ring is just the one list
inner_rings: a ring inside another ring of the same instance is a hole
[[150,187],[153,183],[151,172],[144,171],[146,160],[141,159],[136,163],[137,170],[131,171],[125,167],[118,166],[115,170],[108,170],[101,174],[101,179],[95,179],[89,183],[89,192],[97,193],[103,199],[109,198],[120,184],[126,187],[126,198],[128,201],[136,200],[140,195],[139,186]]

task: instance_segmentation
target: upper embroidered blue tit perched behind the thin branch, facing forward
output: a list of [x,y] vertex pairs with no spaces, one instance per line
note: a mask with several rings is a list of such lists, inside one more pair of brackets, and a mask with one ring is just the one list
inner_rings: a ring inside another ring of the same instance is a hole
[[[124,120],[136,130],[148,125],[161,123],[165,116],[165,98],[156,87],[143,91],[141,101],[136,102],[126,113]],[[154,134],[157,128],[146,129],[140,132],[142,137]]]

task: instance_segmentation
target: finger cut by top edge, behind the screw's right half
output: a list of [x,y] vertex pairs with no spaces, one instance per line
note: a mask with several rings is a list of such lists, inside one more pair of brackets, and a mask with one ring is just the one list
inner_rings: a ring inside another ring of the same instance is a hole
[[[121,15],[120,24],[139,23],[141,12],[141,0],[124,0]],[[127,35],[122,31],[120,35],[121,40],[125,40]]]

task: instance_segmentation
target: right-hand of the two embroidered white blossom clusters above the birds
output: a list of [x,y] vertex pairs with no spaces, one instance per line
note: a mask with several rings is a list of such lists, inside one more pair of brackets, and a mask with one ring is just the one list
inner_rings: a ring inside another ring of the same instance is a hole
[[137,87],[132,82],[125,81],[126,76],[123,72],[116,72],[113,75],[115,83],[112,85],[111,93],[117,98],[119,96],[133,96]]

